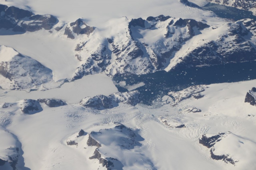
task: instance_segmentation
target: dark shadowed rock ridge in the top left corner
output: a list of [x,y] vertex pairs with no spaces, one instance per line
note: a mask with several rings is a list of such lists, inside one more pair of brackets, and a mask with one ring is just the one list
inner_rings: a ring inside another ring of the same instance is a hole
[[34,32],[41,29],[50,30],[57,22],[52,15],[34,15],[32,12],[17,7],[0,6],[0,29],[17,33]]

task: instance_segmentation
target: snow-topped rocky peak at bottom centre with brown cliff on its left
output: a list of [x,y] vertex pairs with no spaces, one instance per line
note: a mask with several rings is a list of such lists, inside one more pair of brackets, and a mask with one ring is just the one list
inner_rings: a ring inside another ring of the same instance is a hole
[[[155,169],[153,163],[145,155],[132,151],[135,146],[142,146],[140,141],[144,140],[138,135],[136,130],[119,123],[113,123],[113,125],[115,126],[112,128],[101,129],[99,132],[90,133],[87,145],[96,146],[97,148],[89,159],[98,159],[99,163],[108,170],[122,170],[124,167],[122,161],[129,162],[129,158],[136,159],[138,162],[142,161],[141,163],[143,165],[138,165],[138,167],[142,166],[146,169]],[[124,154],[125,160],[110,156],[115,155],[112,154],[113,148],[115,148],[115,153],[119,153],[119,150],[122,150],[120,153]],[[123,151],[124,149],[125,152]],[[104,150],[104,153],[102,153],[102,150]]]

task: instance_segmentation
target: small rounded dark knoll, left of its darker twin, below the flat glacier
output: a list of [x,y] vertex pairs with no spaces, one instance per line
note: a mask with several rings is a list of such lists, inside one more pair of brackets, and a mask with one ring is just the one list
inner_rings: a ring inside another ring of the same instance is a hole
[[41,112],[43,109],[37,100],[25,99],[19,103],[20,110],[24,114],[35,114]]

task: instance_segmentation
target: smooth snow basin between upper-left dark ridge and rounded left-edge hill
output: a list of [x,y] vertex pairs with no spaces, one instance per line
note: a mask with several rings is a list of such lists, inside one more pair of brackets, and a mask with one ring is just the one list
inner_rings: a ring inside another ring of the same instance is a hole
[[[50,34],[46,30],[18,35],[1,35],[0,39],[0,45],[12,47],[50,68],[55,81],[71,78],[79,65],[79,61],[74,56],[76,44],[64,38],[63,35]],[[14,52],[8,51],[8,53],[13,55]]]

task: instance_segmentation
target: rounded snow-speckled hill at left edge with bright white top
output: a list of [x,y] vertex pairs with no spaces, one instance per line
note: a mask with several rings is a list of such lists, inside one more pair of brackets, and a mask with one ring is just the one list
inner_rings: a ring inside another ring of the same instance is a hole
[[52,82],[52,71],[38,61],[0,46],[0,87],[12,90],[38,89]]

